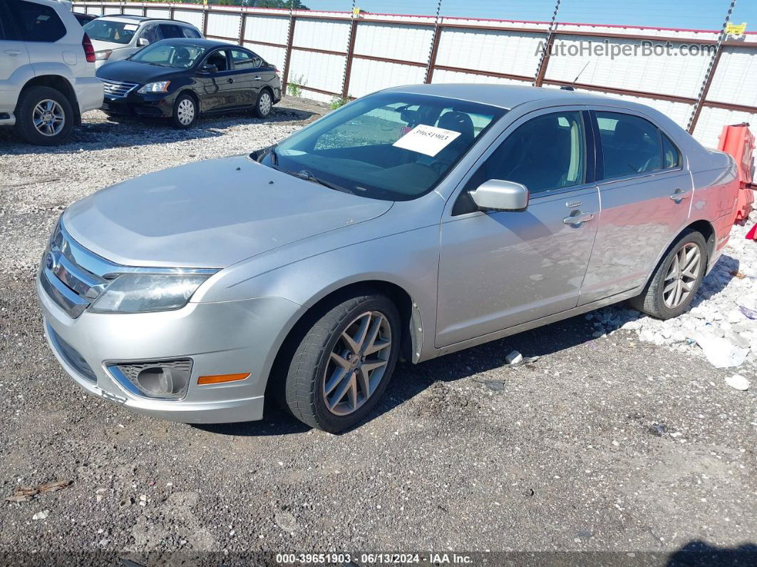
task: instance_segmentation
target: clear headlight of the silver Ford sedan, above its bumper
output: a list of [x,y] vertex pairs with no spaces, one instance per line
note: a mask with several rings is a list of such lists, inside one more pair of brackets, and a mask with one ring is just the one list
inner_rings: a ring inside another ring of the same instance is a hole
[[144,313],[181,309],[210,275],[123,274],[103,291],[90,311]]

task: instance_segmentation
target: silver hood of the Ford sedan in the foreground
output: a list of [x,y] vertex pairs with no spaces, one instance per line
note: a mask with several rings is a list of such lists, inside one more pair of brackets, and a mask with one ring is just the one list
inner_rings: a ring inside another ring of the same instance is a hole
[[371,220],[391,205],[237,156],[104,188],[68,207],[61,220],[74,240],[111,262],[223,268]]

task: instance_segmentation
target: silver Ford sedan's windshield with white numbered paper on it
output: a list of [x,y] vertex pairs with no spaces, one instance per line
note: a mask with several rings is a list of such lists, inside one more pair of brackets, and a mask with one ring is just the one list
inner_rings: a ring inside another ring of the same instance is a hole
[[444,179],[505,112],[451,98],[378,93],[327,114],[260,162],[356,195],[409,201]]

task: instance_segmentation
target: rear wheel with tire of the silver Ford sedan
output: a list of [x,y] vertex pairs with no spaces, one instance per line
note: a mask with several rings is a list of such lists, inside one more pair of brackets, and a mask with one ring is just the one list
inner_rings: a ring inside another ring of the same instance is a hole
[[687,230],[659,263],[644,291],[628,300],[631,307],[658,319],[684,313],[702,285],[707,266],[707,242],[701,233]]

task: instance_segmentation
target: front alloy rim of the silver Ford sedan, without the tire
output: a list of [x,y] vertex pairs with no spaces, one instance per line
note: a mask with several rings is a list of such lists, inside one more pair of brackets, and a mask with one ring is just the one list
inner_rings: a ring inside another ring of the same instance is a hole
[[323,374],[328,410],[347,416],[358,410],[381,383],[391,354],[391,326],[380,311],[366,311],[339,335]]

